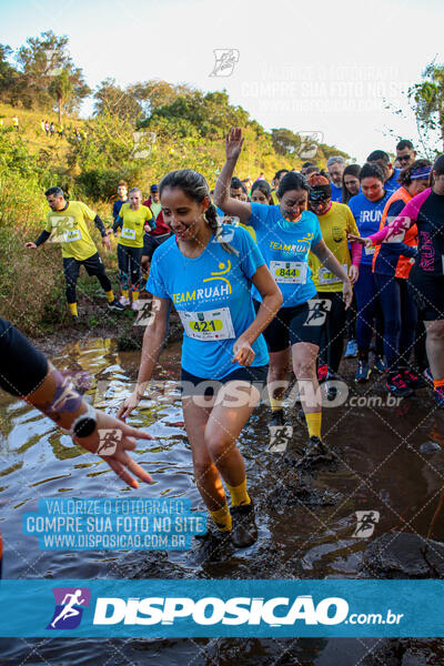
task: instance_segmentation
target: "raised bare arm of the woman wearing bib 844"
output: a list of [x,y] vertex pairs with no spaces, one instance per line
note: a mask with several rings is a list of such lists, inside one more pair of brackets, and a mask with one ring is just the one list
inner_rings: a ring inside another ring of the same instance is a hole
[[228,215],[236,215],[242,224],[248,224],[251,218],[251,203],[239,201],[230,196],[230,183],[242,150],[242,131],[239,128],[231,130],[225,138],[226,161],[219,174],[214,186],[214,203]]

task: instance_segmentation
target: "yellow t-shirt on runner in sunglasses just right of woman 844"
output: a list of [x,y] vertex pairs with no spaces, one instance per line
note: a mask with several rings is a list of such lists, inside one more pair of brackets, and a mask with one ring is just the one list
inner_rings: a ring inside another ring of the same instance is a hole
[[[347,234],[360,235],[352,211],[345,203],[333,201],[330,211],[324,215],[317,215],[317,220],[326,246],[333,252],[340,264],[349,270],[352,261],[346,240]],[[331,273],[313,252],[310,252],[309,265],[317,291],[342,291],[341,280]]]

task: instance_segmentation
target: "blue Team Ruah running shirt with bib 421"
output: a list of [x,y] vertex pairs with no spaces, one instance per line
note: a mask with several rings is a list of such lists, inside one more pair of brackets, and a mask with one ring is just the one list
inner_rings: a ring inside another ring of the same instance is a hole
[[[147,291],[173,302],[184,327],[182,367],[204,380],[221,380],[242,367],[231,362],[233,344],[255,317],[251,280],[265,263],[248,231],[231,224],[223,230],[223,240],[239,255],[212,235],[202,254],[188,259],[171,236],[154,252],[147,283]],[[266,365],[262,335],[252,349],[252,366]]]

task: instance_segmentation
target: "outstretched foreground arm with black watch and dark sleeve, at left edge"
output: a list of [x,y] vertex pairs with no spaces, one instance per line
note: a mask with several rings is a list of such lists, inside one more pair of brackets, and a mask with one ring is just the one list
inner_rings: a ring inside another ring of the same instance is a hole
[[114,431],[113,453],[107,455],[102,450],[101,457],[131,487],[138,487],[134,476],[152,483],[151,476],[128,455],[128,451],[134,451],[135,440],[151,440],[151,435],[94,410],[68,377],[1,317],[0,352],[0,386],[4,391],[32,404],[69,433],[75,444],[91,453],[99,452],[100,431]]

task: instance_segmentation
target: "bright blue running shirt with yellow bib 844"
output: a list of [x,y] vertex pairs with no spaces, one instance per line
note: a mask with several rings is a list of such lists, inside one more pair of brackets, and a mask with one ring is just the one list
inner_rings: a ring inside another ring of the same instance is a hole
[[[283,295],[282,307],[306,303],[316,296],[309,254],[322,241],[319,220],[304,211],[297,222],[282,218],[279,205],[251,204],[249,224],[255,230],[258,245]],[[253,297],[262,301],[253,286]]]

